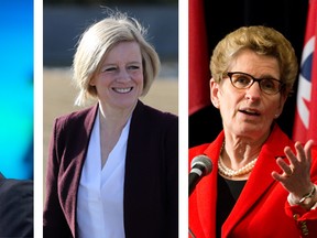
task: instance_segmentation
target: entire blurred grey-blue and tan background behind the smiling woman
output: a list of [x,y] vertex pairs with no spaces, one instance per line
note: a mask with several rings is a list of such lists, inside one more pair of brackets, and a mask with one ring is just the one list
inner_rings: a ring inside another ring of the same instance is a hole
[[107,17],[106,8],[127,12],[147,28],[147,40],[160,55],[162,69],[142,101],[178,113],[177,0],[44,0],[43,3],[44,173],[54,119],[80,109],[74,106],[77,91],[70,82],[76,43],[87,26]]

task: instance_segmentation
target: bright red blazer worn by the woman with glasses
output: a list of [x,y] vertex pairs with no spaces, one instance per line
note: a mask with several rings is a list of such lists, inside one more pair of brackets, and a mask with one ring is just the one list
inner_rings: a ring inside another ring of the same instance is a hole
[[[190,160],[198,154],[208,155],[214,164],[212,172],[203,177],[189,197],[189,228],[197,238],[216,237],[216,205],[218,158],[223,131],[210,144],[203,144],[189,150]],[[317,237],[317,210],[305,212],[299,206],[289,207],[286,201],[288,193],[272,178],[271,172],[281,172],[275,159],[285,155],[291,141],[277,125],[263,144],[258,162],[244,185],[231,214],[222,226],[222,237]],[[317,183],[317,153],[313,151],[311,181]],[[296,221],[294,214],[299,214]],[[303,230],[308,229],[308,236]],[[189,236],[190,237],[190,236]]]

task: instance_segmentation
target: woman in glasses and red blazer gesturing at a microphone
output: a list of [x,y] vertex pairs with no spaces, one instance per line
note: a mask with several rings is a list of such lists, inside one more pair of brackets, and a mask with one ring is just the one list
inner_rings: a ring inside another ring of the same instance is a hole
[[297,76],[291,43],[265,26],[240,28],[210,62],[210,98],[223,131],[189,150],[214,164],[189,197],[190,235],[316,237],[317,150],[275,122]]

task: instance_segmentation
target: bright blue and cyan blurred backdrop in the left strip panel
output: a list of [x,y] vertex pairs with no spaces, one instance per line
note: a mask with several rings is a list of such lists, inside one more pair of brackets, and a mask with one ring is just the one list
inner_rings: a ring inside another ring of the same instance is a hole
[[0,171],[33,178],[33,0],[1,1]]

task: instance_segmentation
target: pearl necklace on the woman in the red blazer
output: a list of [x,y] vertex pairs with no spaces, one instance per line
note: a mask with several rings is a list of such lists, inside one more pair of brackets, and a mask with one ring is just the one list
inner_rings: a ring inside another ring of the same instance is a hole
[[232,169],[226,166],[223,161],[222,161],[222,156],[221,156],[221,152],[223,150],[223,145],[225,145],[225,143],[222,144],[222,148],[220,150],[220,156],[219,156],[219,160],[218,160],[218,170],[219,170],[219,172],[222,175],[226,175],[226,176],[229,176],[229,177],[242,176],[242,175],[245,175],[245,174],[250,173],[253,170],[258,158],[255,158],[254,160],[250,161],[248,164],[245,164],[244,166],[240,167],[239,170],[232,170]]

